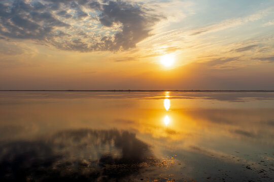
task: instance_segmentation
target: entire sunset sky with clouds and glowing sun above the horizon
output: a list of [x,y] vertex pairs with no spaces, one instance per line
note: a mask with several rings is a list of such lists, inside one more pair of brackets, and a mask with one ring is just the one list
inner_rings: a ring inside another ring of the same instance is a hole
[[0,89],[274,90],[274,1],[0,1]]

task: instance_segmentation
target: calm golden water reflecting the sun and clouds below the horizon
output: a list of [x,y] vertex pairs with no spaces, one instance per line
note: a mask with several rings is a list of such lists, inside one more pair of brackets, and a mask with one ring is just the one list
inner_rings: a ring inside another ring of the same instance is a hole
[[273,181],[273,139],[270,92],[0,92],[1,181]]

